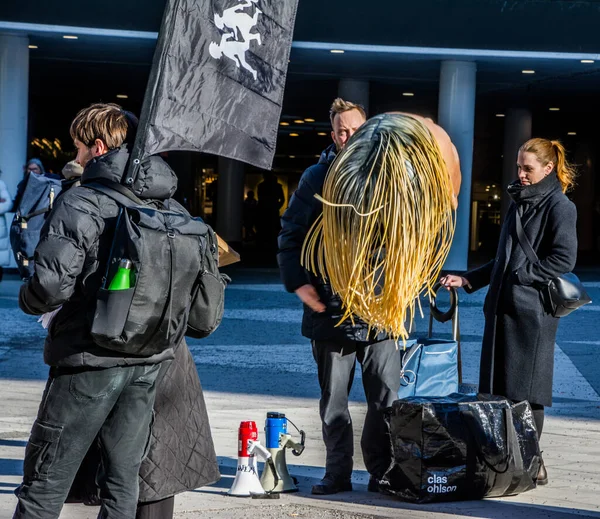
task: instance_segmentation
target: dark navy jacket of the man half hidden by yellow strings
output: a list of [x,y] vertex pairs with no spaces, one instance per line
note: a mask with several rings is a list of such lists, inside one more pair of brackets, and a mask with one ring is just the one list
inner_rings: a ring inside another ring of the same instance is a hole
[[354,324],[348,319],[336,327],[344,314],[340,298],[333,293],[331,285],[309,273],[300,261],[304,239],[323,211],[323,205],[315,198],[315,194],[322,194],[325,176],[335,157],[336,147],[332,144],[323,151],[319,162],[302,174],[298,189],[281,218],[277,254],[281,278],[288,292],[294,292],[306,284],[313,285],[319,298],[327,307],[325,312],[317,313],[304,305],[302,335],[305,337],[318,341],[383,340],[385,338],[383,334],[376,335],[373,332],[369,334],[368,326],[357,318],[354,319]]

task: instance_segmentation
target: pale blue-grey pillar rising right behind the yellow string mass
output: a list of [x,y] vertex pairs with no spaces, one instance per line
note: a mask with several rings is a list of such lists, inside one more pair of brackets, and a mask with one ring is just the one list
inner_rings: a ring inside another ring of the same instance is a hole
[[473,136],[477,65],[470,61],[444,61],[440,71],[438,123],[458,150],[462,184],[458,196],[456,231],[445,270],[467,270],[471,213]]

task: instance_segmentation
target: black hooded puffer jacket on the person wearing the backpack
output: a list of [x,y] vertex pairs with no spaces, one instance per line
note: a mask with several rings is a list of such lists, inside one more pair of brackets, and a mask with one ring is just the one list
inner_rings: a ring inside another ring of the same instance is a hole
[[[110,151],[87,165],[82,185],[61,196],[42,229],[35,251],[35,274],[19,293],[28,314],[56,310],[44,348],[50,366],[112,367],[155,363],[171,358],[172,349],[148,358],[123,358],[97,346],[90,335],[96,294],[106,270],[119,207],[106,195],[85,186],[96,179],[120,182],[129,159],[127,148]],[[177,177],[158,157],[147,159],[132,186],[148,201],[170,198]]]

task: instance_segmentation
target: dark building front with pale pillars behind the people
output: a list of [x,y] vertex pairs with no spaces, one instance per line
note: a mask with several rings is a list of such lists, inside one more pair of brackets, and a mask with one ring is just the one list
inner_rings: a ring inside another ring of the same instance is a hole
[[[54,169],[68,160],[81,107],[113,101],[139,112],[163,9],[162,0],[3,2],[0,169],[12,194],[28,156]],[[597,262],[599,20],[595,1],[300,0],[274,163],[286,201],[330,143],[327,112],[341,95],[372,115],[430,116],[450,133],[463,186],[447,268],[494,253],[504,188],[531,136],[560,139],[579,166],[580,258]],[[262,172],[208,155],[168,160],[180,200],[242,242],[243,199]]]

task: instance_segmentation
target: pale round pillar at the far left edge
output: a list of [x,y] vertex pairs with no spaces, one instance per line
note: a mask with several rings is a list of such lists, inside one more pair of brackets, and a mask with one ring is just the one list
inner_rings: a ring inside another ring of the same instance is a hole
[[0,34],[0,170],[11,197],[27,161],[29,38]]

